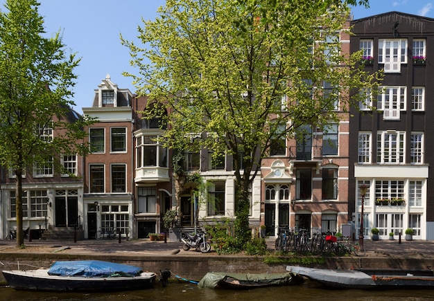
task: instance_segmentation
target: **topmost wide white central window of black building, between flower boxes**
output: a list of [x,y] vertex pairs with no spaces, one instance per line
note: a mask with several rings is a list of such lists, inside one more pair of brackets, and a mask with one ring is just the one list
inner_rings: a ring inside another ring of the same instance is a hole
[[407,63],[407,40],[380,39],[379,63],[384,64],[385,73],[401,72],[401,64]]

